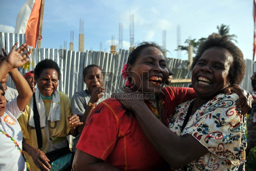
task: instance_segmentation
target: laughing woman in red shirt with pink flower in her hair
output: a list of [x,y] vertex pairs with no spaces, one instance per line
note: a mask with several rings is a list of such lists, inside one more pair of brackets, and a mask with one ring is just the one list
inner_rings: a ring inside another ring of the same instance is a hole
[[[143,92],[140,98],[147,108],[168,126],[175,106],[195,98],[195,93],[191,88],[163,88],[168,77],[164,52],[155,43],[142,42],[129,54],[124,70],[131,83],[127,87]],[[133,94],[121,98],[130,96]],[[109,98],[97,105],[76,148],[75,171],[165,169],[164,159],[147,140],[134,113],[117,99]]]

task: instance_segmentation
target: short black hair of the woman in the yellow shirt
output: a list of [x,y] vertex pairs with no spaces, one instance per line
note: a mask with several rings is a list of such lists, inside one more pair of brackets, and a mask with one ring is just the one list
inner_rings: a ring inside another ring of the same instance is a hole
[[35,77],[39,78],[40,74],[43,72],[45,69],[54,69],[58,73],[58,80],[60,79],[60,68],[56,62],[54,62],[52,59],[44,59],[35,66],[34,73]]

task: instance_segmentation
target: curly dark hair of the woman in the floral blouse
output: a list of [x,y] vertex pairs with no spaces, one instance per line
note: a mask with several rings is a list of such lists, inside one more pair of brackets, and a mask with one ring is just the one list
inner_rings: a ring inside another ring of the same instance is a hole
[[211,47],[224,48],[233,56],[233,65],[229,69],[230,84],[240,84],[245,75],[246,65],[243,58],[244,56],[242,51],[230,41],[229,35],[221,36],[217,33],[209,35],[209,37],[199,45],[190,69],[193,70],[204,51]]

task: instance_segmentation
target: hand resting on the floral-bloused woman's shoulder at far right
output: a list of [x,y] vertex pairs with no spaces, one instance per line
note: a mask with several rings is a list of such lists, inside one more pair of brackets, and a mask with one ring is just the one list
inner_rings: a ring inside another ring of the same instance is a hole
[[236,84],[233,84],[224,89],[224,93],[226,95],[230,95],[231,92],[237,93],[240,97],[237,106],[239,109],[241,109],[242,115],[246,115],[247,112],[252,108],[253,98],[251,94]]

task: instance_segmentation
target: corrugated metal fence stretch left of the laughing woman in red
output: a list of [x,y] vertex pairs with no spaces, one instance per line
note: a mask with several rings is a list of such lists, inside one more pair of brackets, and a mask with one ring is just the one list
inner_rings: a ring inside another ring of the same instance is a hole
[[[5,48],[6,52],[9,53],[15,42],[19,42],[19,45],[21,45],[25,40],[26,36],[24,34],[0,33],[0,48]],[[33,49],[30,54],[31,65],[27,70],[20,67],[19,71],[24,75],[26,72],[34,70],[36,64],[43,59],[54,60],[61,70],[58,89],[71,98],[75,92],[86,89],[86,85],[83,82],[83,69],[85,66],[96,64],[105,71],[104,85],[107,88],[107,93],[113,93],[120,91],[120,89],[122,90],[124,87],[121,71],[123,64],[127,60],[128,53],[129,50],[120,50],[119,54],[110,54],[91,50],[76,52],[60,49]],[[121,77],[119,77],[120,75]],[[15,88],[11,79],[6,84]]]

